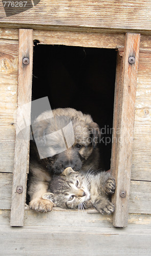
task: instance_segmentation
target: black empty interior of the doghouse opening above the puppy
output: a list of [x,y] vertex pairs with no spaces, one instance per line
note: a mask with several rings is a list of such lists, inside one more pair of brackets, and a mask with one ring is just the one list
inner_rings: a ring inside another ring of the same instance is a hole
[[101,167],[110,169],[115,49],[38,45],[33,52],[32,100],[48,96],[51,109],[74,108],[100,126]]

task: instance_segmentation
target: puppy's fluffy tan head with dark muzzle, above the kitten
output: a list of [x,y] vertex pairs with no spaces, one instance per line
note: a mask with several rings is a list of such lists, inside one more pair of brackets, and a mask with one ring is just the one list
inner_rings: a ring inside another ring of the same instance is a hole
[[39,156],[51,172],[60,174],[69,166],[77,171],[93,161],[99,127],[89,115],[59,111],[54,118],[36,121],[32,129]]

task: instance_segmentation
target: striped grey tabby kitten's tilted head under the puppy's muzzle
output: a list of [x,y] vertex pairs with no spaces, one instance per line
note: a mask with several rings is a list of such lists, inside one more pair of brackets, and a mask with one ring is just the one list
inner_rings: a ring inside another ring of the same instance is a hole
[[42,198],[63,208],[78,208],[79,205],[90,199],[87,178],[74,172],[71,167],[63,170],[62,175],[54,175],[49,191],[42,195]]

